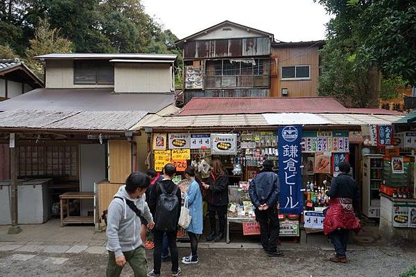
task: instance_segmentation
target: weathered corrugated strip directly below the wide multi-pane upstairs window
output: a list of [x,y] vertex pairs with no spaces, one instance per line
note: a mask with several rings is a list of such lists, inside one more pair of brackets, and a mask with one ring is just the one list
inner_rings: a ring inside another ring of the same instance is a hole
[[268,97],[269,89],[207,89],[205,91],[184,91],[184,101],[189,102],[192,98],[211,97]]

